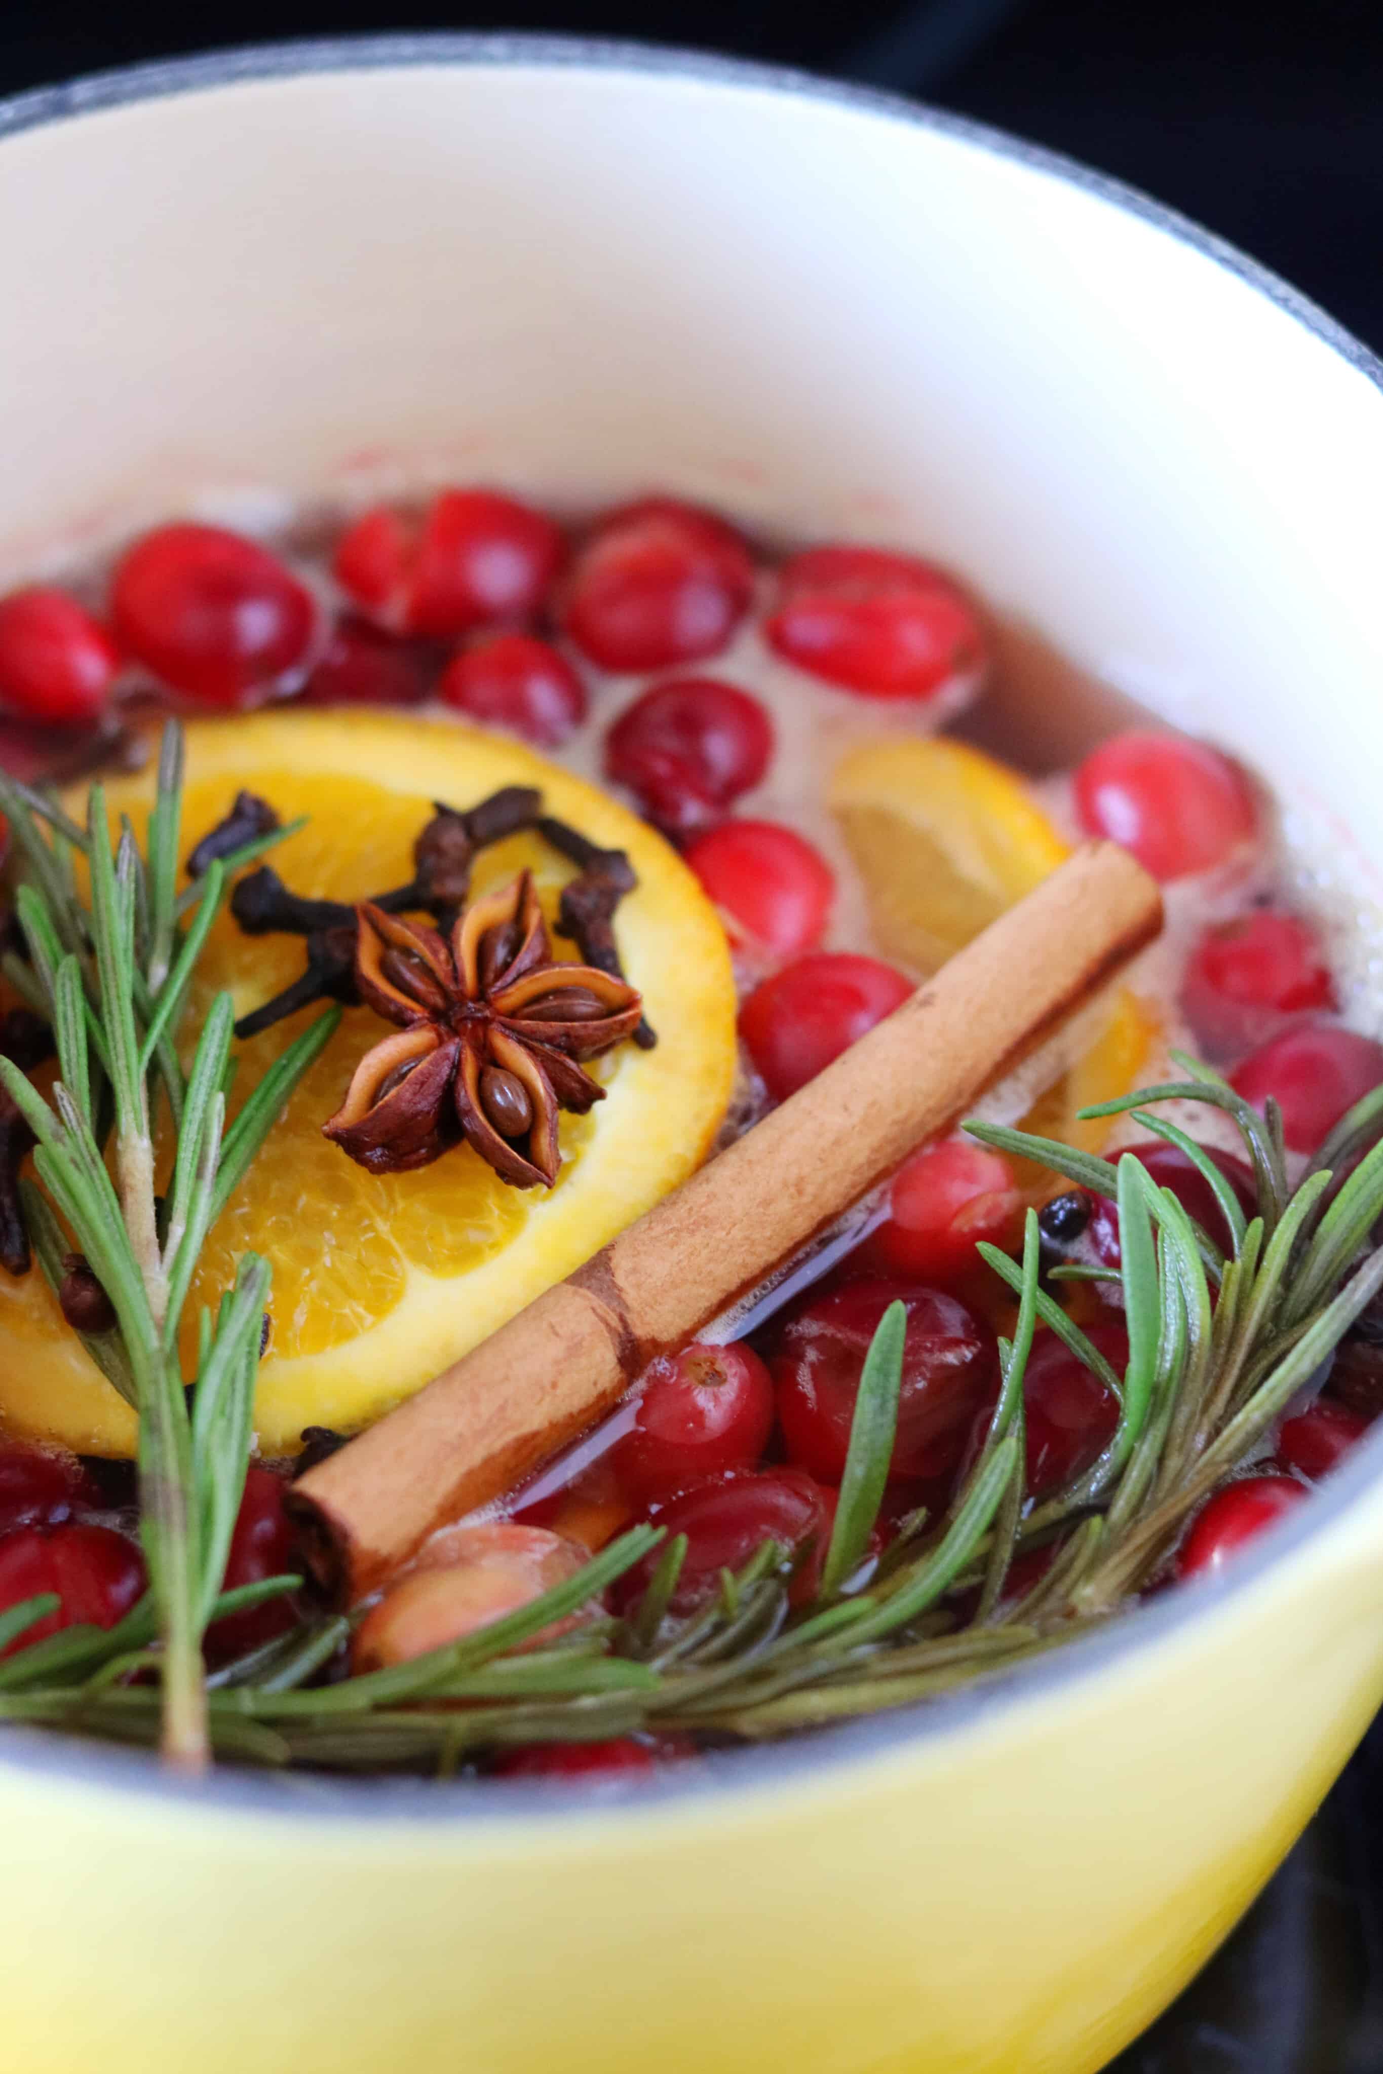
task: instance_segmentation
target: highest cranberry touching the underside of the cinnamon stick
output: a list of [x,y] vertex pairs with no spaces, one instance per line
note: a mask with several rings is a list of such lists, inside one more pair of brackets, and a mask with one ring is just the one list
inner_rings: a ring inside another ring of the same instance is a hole
[[867,1259],[890,1273],[950,1284],[977,1265],[981,1238],[1006,1246],[1022,1199],[1001,1153],[966,1139],[925,1145],[902,1164],[887,1220],[867,1242]]

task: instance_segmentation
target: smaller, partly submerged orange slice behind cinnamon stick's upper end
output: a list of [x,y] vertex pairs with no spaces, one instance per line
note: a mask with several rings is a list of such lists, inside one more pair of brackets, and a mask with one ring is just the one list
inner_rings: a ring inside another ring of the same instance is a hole
[[[1018,772],[945,736],[852,749],[834,772],[829,805],[865,881],[879,950],[916,973],[933,973],[1070,854]],[[1109,1122],[1082,1124],[1076,1110],[1138,1085],[1153,1031],[1138,996],[1113,987],[1099,1035],[1022,1128],[1099,1151]],[[1022,1184],[1039,1195],[1060,1186],[1037,1168]]]

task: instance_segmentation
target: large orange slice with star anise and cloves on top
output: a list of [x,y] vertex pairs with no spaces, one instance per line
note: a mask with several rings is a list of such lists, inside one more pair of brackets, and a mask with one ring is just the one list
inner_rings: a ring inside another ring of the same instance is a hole
[[[518,742],[446,722],[276,711],[195,724],[187,747],[185,852],[236,790],[259,792],[284,819],[311,817],[272,857],[294,892],[357,900],[404,884],[435,798],[469,807],[506,784],[539,786],[552,815],[603,848],[624,848],[639,875],[616,933],[659,1041],[653,1052],[624,1043],[593,1062],[608,1095],[589,1116],[562,1118],[564,1164],[552,1190],[506,1186],[469,1147],[413,1174],[373,1176],[328,1143],[321,1124],[365,1049],[388,1035],[367,1008],[346,1010],[297,1089],[214,1228],[187,1309],[191,1327],[241,1253],[270,1259],[257,1433],[261,1450],[278,1454],[297,1448],[307,1425],[350,1431],[377,1419],[699,1166],[734,1083],[734,983],[715,910],[661,836]],[[151,780],[108,790],[112,813],[126,811],[143,832]],[[485,850],[473,892],[525,867],[552,917],[572,867],[537,836]],[[562,937],[556,950],[574,956]],[[301,971],[301,940],[247,937],[222,915],[189,1035],[216,989],[230,987],[245,1014]],[[232,1112],[315,1012],[238,1047]],[[37,1269],[23,1282],[0,1276],[0,1334],[6,1427],[95,1454],[133,1450],[133,1412],[66,1332]]]

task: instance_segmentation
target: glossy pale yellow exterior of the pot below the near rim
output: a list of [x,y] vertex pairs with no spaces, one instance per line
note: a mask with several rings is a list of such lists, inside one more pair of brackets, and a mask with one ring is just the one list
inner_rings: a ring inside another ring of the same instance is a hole
[[1302,1526],[1031,1692],[651,1802],[493,1819],[504,1788],[419,1786],[352,1815],[307,1784],[267,1811],[0,1765],[4,2064],[1086,2074],[1205,1960],[1383,1697],[1383,1495]]

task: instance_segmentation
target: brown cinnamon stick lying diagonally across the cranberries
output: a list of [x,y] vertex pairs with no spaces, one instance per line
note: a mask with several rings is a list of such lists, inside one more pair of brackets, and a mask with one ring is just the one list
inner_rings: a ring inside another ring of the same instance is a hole
[[292,1489],[338,1601],[512,1489],[1078,1008],[1161,927],[1161,896],[1086,844],[825,1072],[508,1325]]

